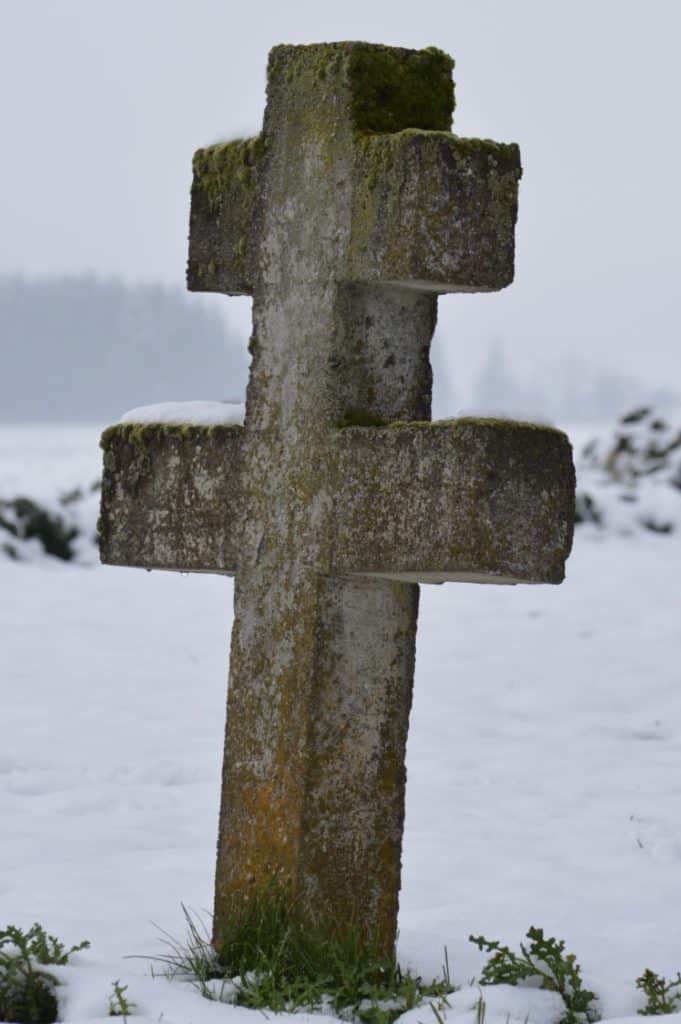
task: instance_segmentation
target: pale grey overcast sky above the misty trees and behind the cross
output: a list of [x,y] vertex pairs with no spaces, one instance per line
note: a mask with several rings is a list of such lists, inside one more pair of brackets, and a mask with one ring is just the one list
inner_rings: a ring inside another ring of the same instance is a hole
[[455,131],[524,167],[515,283],[440,299],[453,376],[501,339],[679,386],[680,30],[679,0],[0,0],[0,271],[182,287],[191,154],[259,130],[270,46],[436,45]]

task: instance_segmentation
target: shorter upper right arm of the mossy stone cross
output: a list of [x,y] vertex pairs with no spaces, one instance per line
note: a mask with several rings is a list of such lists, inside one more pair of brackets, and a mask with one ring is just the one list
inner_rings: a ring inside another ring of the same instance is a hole
[[409,129],[359,136],[348,278],[435,292],[513,280],[515,144]]

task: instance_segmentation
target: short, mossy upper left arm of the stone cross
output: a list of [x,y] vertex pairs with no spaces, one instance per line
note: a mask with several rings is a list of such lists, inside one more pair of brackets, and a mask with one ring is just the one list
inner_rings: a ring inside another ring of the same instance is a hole
[[258,135],[195,154],[186,271],[189,291],[253,293],[255,196],[262,150]]

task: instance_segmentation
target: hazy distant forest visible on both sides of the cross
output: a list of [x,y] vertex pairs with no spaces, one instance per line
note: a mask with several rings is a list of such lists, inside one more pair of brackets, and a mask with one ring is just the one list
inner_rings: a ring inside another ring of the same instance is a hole
[[[0,276],[0,422],[103,425],[158,401],[243,401],[248,339],[229,332],[217,301],[90,274]],[[462,351],[463,339],[435,333],[435,418],[472,410],[606,423],[634,407],[678,400],[676,381],[644,385],[599,367],[596,353],[591,364],[553,350],[549,336],[546,357],[529,366],[511,342],[491,340],[464,391],[452,371]]]

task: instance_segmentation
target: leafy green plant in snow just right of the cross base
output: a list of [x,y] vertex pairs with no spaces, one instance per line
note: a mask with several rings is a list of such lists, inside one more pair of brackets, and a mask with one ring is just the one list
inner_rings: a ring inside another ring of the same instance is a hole
[[565,1004],[562,1024],[585,1024],[599,1019],[592,1004],[595,992],[582,984],[582,969],[574,953],[565,953],[562,939],[547,938],[542,928],[530,928],[527,943],[520,943],[520,952],[513,952],[500,942],[471,935],[478,949],[492,953],[480,975],[486,985],[517,985],[523,981],[539,981],[541,987],[558,992]]

